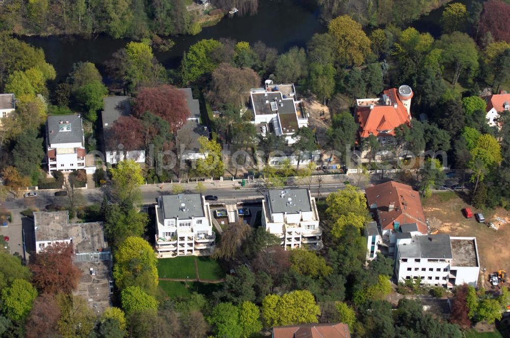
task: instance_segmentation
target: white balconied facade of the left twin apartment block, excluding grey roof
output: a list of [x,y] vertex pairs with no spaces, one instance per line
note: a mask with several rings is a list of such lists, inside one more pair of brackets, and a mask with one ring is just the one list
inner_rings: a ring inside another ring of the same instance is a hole
[[[186,200],[186,194],[183,194]],[[166,201],[165,201],[166,202]],[[211,210],[200,196],[201,212],[186,218],[164,215],[163,199],[156,205],[156,252],[158,258],[177,256],[209,256],[215,247],[216,234],[212,231]]]

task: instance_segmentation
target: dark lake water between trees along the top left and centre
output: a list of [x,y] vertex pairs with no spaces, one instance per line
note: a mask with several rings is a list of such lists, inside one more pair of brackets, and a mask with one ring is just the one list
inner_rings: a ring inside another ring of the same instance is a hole
[[[319,21],[318,10],[312,11],[299,1],[262,0],[257,15],[225,17],[196,36],[172,37],[175,46],[168,52],[155,51],[155,55],[166,68],[177,68],[183,53],[201,39],[233,38],[251,44],[260,40],[268,47],[284,52],[292,46],[304,46],[312,35],[323,32],[326,32],[326,27]],[[130,41],[114,40],[107,35],[95,39],[72,36],[30,36],[21,39],[44,50],[46,61],[55,67],[59,79],[64,79],[71,71],[72,64],[79,61],[90,61],[100,71],[104,70],[102,64]]]

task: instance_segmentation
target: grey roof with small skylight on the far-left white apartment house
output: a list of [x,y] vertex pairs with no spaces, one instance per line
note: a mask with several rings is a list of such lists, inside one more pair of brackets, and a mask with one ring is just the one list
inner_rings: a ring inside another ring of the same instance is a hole
[[82,118],[78,115],[48,116],[46,133],[49,144],[81,143],[83,142]]

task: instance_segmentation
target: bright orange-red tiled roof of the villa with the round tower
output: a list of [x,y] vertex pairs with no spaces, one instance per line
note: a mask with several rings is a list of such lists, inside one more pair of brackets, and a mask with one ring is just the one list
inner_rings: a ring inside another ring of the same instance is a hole
[[[391,101],[390,105],[359,106],[356,108],[356,116],[360,122],[360,136],[368,137],[370,133],[379,135],[378,130],[391,130],[390,135],[395,135],[394,129],[406,123],[411,125],[411,119],[405,106],[397,95],[397,89],[391,88],[384,91]],[[394,106],[396,104],[396,107]]]

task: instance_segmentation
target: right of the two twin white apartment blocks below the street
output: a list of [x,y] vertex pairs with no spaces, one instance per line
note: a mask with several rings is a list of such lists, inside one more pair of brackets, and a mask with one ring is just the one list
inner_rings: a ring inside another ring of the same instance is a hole
[[266,231],[282,239],[286,250],[323,246],[317,205],[308,189],[268,190],[262,200],[262,222]]

